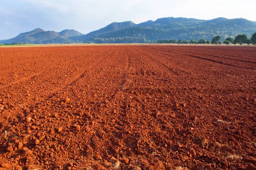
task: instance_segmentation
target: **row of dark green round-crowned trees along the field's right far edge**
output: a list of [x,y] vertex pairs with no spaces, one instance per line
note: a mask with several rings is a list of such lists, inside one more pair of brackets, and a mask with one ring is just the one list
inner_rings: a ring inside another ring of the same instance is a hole
[[248,37],[244,34],[239,34],[238,36],[236,36],[235,39],[233,39],[232,37],[228,37],[224,42],[220,41],[221,40],[221,36],[217,36],[214,37],[212,39],[212,41],[207,41],[205,39],[200,39],[198,41],[195,40],[158,40],[156,43],[164,43],[164,44],[253,44],[256,45],[256,33],[253,34],[253,36],[251,37],[251,39],[248,39]]

